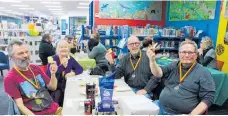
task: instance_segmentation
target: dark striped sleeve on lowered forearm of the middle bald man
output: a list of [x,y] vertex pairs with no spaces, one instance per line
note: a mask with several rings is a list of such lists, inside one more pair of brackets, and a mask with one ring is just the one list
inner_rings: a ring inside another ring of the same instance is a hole
[[159,82],[159,78],[155,78],[154,76],[152,76],[146,84],[146,86],[144,87],[144,89],[147,91],[147,93],[151,93],[158,86]]

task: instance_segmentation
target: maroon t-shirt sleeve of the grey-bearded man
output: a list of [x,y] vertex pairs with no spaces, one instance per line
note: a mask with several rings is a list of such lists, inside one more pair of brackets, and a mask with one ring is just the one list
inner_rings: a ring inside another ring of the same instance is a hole
[[9,94],[9,96],[12,97],[13,99],[21,98],[19,85],[13,80],[11,80],[9,77],[5,77],[4,88],[5,88],[5,92]]

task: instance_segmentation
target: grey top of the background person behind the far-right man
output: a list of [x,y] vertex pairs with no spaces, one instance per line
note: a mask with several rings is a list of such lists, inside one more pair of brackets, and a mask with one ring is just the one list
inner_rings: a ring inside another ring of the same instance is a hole
[[216,68],[217,68],[217,65],[216,65],[216,54],[215,54],[214,49],[210,49],[210,50],[205,54],[204,59],[205,59],[206,57],[211,57],[211,58],[213,58],[213,60],[210,61],[210,63],[207,65],[207,67],[216,69]]

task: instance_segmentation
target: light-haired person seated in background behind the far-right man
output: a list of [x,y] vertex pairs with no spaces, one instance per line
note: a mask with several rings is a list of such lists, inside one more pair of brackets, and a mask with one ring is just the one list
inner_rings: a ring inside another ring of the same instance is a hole
[[217,69],[216,53],[213,49],[213,42],[210,37],[203,37],[200,43],[199,63],[203,66]]

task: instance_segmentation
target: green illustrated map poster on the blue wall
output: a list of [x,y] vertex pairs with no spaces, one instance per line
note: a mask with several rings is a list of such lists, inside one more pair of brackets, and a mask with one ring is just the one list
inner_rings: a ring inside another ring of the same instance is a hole
[[170,1],[169,21],[214,19],[215,8],[216,1]]

